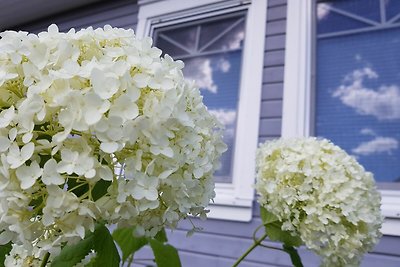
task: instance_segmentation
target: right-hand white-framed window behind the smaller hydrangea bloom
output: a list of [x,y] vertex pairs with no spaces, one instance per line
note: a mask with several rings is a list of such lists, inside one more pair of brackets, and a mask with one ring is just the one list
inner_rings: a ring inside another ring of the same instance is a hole
[[382,231],[392,235],[400,235],[399,19],[398,1],[289,0],[282,125],[284,136],[332,140],[373,172]]

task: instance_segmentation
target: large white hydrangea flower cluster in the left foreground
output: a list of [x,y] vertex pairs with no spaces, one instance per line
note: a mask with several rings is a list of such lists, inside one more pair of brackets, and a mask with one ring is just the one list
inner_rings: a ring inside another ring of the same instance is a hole
[[0,244],[53,256],[99,220],[205,216],[226,145],[181,61],[111,26],[0,37]]

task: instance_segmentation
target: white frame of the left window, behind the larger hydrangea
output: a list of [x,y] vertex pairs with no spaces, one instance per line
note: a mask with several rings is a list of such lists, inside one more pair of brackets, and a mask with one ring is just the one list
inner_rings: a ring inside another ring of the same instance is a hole
[[250,221],[254,200],[268,0],[139,0],[136,35],[155,27],[246,10],[232,183],[216,184],[209,218]]

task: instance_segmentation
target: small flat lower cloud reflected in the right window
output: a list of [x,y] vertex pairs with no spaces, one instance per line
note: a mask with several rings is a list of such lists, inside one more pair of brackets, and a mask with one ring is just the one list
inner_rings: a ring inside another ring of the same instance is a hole
[[399,142],[391,137],[377,136],[371,141],[363,142],[352,152],[361,156],[369,156],[373,154],[387,153],[391,154],[393,150],[398,149]]

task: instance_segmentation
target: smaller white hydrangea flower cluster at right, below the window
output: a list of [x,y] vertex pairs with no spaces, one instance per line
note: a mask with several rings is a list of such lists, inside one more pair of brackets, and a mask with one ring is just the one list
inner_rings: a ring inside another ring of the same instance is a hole
[[373,175],[326,139],[266,142],[257,153],[259,203],[322,256],[322,266],[358,266],[381,237]]

